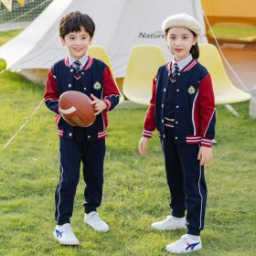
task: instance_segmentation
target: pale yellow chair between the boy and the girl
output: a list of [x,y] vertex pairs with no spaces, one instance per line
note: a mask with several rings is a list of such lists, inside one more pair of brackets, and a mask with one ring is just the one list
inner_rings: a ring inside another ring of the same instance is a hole
[[135,103],[149,105],[152,80],[157,69],[165,63],[165,56],[160,47],[133,46],[123,78],[123,94]]

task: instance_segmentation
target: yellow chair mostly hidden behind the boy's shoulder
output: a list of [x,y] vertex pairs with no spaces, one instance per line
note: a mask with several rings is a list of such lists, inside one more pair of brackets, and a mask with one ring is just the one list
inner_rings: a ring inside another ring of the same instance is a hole
[[[88,49],[87,49],[87,54],[90,55],[92,58],[95,59],[101,59],[101,61],[103,61],[110,69],[112,72],[112,77],[116,83],[116,80],[114,78],[114,74],[113,74],[113,70],[112,70],[112,64],[111,61],[109,59],[109,56],[107,54],[107,51],[105,50],[105,48],[101,47],[101,46],[96,46],[96,45],[91,45]],[[117,86],[117,83],[116,83]],[[117,86],[118,88],[118,86]],[[118,88],[119,90],[119,88]],[[120,90],[119,90],[120,92]],[[120,103],[124,101],[124,97],[123,94],[120,92],[121,97],[120,97]]]

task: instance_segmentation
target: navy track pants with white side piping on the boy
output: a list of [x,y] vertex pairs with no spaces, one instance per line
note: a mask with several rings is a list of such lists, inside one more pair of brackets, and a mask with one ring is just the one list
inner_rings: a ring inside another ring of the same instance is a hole
[[101,206],[103,187],[103,161],[105,139],[95,142],[78,142],[59,138],[59,183],[55,192],[55,219],[58,225],[69,223],[74,197],[80,179],[80,163],[86,187],[84,211],[89,213]]

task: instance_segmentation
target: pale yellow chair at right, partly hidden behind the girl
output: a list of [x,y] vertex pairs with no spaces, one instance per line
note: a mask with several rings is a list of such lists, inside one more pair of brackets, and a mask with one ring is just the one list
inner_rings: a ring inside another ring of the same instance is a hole
[[230,104],[248,101],[251,94],[241,91],[229,80],[218,49],[211,44],[199,44],[198,62],[208,69],[211,76],[216,104]]

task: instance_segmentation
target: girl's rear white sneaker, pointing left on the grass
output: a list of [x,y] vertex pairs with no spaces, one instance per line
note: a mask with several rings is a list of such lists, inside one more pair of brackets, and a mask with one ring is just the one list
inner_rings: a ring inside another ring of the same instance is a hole
[[152,223],[151,227],[159,230],[187,229],[185,217],[179,218],[178,220],[176,219],[174,219],[172,215],[168,215],[166,219]]

